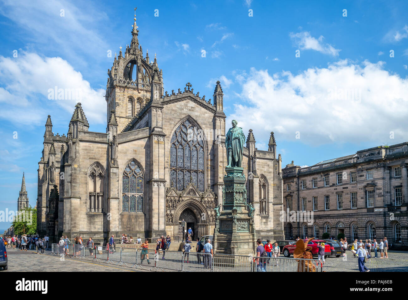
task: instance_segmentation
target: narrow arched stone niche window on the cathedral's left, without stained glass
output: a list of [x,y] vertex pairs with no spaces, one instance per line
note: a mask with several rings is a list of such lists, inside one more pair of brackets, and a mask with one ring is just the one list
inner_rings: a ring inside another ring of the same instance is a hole
[[102,212],[105,170],[99,162],[88,169],[88,207],[90,212]]

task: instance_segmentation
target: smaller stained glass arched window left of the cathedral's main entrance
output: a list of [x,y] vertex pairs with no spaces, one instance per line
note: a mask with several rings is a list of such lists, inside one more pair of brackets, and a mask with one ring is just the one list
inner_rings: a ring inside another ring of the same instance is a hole
[[122,211],[143,211],[144,178],[136,162],[129,162],[122,176]]

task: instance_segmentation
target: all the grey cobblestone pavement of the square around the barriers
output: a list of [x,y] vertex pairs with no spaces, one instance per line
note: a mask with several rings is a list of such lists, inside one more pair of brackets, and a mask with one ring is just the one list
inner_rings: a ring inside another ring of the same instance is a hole
[[[346,252],[346,257],[328,257],[326,263],[323,266],[323,271],[326,272],[359,272],[357,258],[353,257],[353,253]],[[153,254],[154,255],[154,254]],[[195,259],[196,255],[190,254],[192,259]],[[130,268],[126,266],[116,266],[113,264],[106,264],[95,261],[86,261],[83,259],[68,258],[65,257],[61,260],[61,256],[51,255],[51,251],[46,251],[46,254],[37,254],[33,250],[27,252],[20,250],[9,249],[7,251],[9,258],[8,270],[1,272],[13,272],[13,271],[31,271],[31,272],[145,272],[144,270]],[[284,257],[281,255],[280,257]],[[370,258],[366,263],[366,266],[371,272],[408,272],[408,252],[388,252],[389,258]],[[153,261],[153,260],[152,260]],[[166,259],[167,261],[167,259]],[[191,261],[193,263],[193,261]],[[173,261],[169,259],[166,263],[160,261],[158,265],[172,265],[181,264],[180,261]],[[289,265],[286,263],[286,267],[282,268],[284,262],[279,262],[280,267],[275,267],[274,263],[268,265],[268,271],[282,272],[286,270]],[[246,264],[245,264],[246,265]],[[175,266],[172,266],[175,267]],[[200,267],[191,269],[191,271],[204,271],[199,270]],[[150,268],[145,267],[145,268]],[[242,268],[244,270],[245,268]],[[296,267],[290,267],[290,269],[296,269]],[[205,270],[207,271],[207,270]]]

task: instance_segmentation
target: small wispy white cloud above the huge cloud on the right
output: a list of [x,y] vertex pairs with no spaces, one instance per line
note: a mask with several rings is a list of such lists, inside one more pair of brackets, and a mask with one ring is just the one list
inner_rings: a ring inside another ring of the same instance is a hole
[[310,32],[302,31],[298,33],[289,33],[290,38],[293,40],[295,45],[301,50],[316,50],[320,53],[338,56],[341,50],[334,48],[332,45],[324,43],[324,37],[321,35],[318,39],[312,37]]

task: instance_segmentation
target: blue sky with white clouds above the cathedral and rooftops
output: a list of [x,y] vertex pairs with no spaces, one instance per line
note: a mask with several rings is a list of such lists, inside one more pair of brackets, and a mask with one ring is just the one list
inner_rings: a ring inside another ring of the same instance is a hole
[[[0,3],[0,210],[16,209],[23,171],[35,205],[48,114],[67,134],[80,101],[89,129],[105,131],[106,72],[130,43],[135,6],[164,90],[191,82],[208,99],[220,80],[227,121],[252,128],[258,149],[274,131],[284,164],[408,141],[406,1]],[[49,99],[54,86],[80,99]]]

